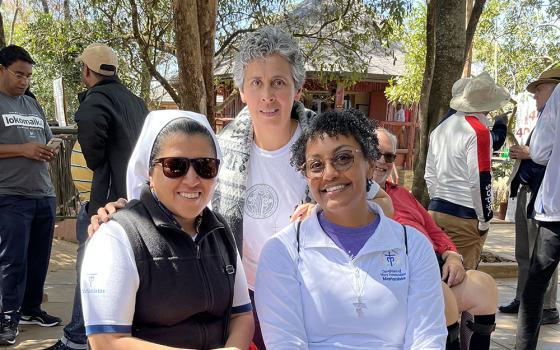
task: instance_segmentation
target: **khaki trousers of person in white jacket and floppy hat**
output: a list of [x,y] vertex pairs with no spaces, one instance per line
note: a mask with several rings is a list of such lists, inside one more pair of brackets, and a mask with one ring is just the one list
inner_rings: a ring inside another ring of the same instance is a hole
[[487,236],[487,234],[480,235],[478,220],[463,219],[431,210],[429,213],[457,246],[457,251],[463,256],[465,270],[476,270]]

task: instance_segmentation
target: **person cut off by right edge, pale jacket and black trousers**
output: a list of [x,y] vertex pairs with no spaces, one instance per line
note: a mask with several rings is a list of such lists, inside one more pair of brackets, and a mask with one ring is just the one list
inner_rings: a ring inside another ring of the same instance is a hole
[[[549,75],[548,81],[560,81],[559,72]],[[535,163],[546,165],[546,170],[535,199],[538,233],[521,295],[516,349],[537,347],[545,292],[560,260],[560,84],[543,88],[553,91],[533,130],[529,152]]]

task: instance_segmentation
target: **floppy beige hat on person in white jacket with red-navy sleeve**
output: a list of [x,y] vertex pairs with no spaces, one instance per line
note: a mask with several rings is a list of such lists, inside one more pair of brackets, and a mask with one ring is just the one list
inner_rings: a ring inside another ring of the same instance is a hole
[[509,92],[496,85],[486,72],[472,78],[457,80],[451,93],[453,97],[449,105],[461,112],[489,112],[509,101]]

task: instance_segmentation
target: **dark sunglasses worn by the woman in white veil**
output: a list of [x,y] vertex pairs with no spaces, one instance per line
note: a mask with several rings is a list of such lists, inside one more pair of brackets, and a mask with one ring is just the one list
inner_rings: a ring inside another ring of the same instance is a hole
[[220,160],[216,158],[166,157],[155,159],[152,166],[158,163],[161,164],[163,175],[170,179],[185,176],[191,165],[201,178],[213,179],[218,175]]

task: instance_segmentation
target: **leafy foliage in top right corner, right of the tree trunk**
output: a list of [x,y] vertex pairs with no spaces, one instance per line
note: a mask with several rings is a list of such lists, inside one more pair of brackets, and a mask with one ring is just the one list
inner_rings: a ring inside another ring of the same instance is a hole
[[[553,1],[489,0],[474,39],[473,59],[511,93],[560,58]],[[556,5],[558,6],[558,5]],[[558,13],[556,13],[558,18]]]

